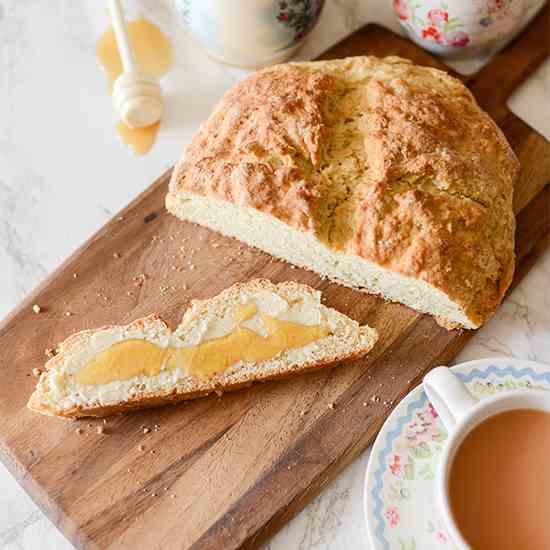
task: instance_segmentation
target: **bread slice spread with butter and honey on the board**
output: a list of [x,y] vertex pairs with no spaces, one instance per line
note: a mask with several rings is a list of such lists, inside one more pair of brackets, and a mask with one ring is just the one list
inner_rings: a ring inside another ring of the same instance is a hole
[[174,332],[152,315],[70,336],[28,406],[68,418],[107,416],[350,360],[377,338],[321,304],[319,291],[257,279],[193,301]]

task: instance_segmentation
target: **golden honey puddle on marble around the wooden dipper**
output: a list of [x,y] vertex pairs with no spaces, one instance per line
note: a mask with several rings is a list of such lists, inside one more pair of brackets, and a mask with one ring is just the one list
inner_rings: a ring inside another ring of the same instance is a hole
[[[172,44],[168,37],[153,23],[143,17],[127,23],[128,35],[132,43],[134,59],[139,70],[160,79],[172,64]],[[100,37],[96,54],[108,79],[109,93],[115,80],[122,74],[122,62],[118,54],[115,33],[112,26]],[[132,129],[118,122],[116,131],[123,143],[137,155],[143,155],[151,149],[160,123],[146,128]]]

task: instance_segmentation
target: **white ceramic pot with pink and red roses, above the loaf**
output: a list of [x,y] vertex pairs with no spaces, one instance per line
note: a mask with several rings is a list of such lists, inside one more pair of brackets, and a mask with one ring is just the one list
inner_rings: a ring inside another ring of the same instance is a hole
[[525,0],[393,0],[414,42],[444,57],[489,54],[518,31]]

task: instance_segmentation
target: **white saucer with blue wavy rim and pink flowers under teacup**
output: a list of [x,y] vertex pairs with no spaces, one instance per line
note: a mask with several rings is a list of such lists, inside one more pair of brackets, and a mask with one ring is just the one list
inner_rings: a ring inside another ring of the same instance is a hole
[[[452,370],[479,399],[501,390],[550,390],[550,367],[520,359],[480,359]],[[418,386],[378,434],[365,477],[365,515],[373,550],[454,548],[434,505],[434,473],[447,433]]]

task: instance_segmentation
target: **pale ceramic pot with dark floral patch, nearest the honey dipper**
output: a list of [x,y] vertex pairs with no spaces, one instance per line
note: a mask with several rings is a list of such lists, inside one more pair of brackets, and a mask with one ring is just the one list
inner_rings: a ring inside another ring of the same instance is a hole
[[313,28],[324,0],[175,0],[185,26],[211,57],[256,68],[288,59]]

